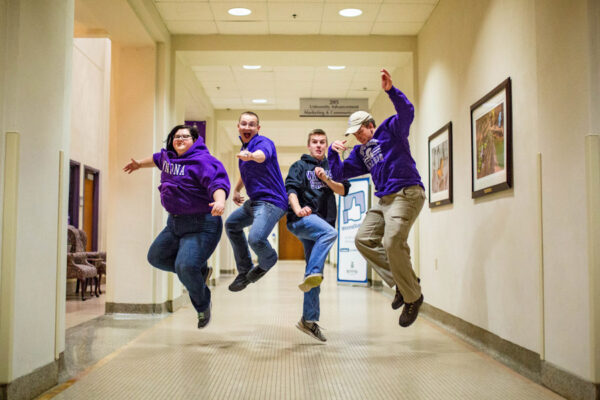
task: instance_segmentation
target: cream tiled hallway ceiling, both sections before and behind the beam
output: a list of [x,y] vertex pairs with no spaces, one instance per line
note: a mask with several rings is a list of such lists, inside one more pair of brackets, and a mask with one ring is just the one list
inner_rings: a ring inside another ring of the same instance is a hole
[[[437,3],[154,0],[169,31],[187,35],[416,35]],[[229,9],[239,7],[252,10],[252,14],[228,14]],[[343,8],[359,8],[363,14],[345,18],[338,14]],[[294,38],[315,40],[315,36]],[[297,110],[301,97],[367,98],[370,107],[381,93],[381,68],[393,73],[412,60],[410,53],[366,50],[181,51],[178,56],[195,73],[215,109]],[[261,65],[261,69],[245,70],[243,65]],[[332,71],[328,65],[346,68]],[[266,99],[267,103],[255,104],[253,99]]]

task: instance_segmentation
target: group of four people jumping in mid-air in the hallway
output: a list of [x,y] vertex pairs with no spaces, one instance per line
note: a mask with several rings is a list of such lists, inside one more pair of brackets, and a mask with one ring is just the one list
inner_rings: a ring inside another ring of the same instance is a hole
[[[375,185],[379,201],[367,211],[355,243],[381,278],[390,287],[395,286],[392,308],[404,305],[399,324],[411,325],[423,303],[407,243],[425,201],[424,186],[408,142],[414,107],[392,85],[385,69],[381,71],[381,86],[396,114],[376,127],[368,112],[353,113],[345,135],[354,135],[360,144],[344,160],[341,154],[347,150],[346,140],[336,140],[328,147],[326,133],[312,130],[308,134],[309,154],[302,155],[290,167],[285,182],[275,144],[259,135],[258,115],[243,112],[237,124],[242,142],[236,156],[240,179],[232,197],[239,208],[225,221],[225,232],[238,274],[229,290],[244,290],[277,263],[277,252],[268,236],[287,212],[287,228],[302,242],[306,261],[304,279],[299,285],[304,302],[297,328],[323,342],[327,339],[318,325],[319,294],[325,261],[337,239],[334,193],[347,195],[350,178],[371,174]],[[148,261],[158,269],[177,274],[198,314],[198,328],[203,328],[211,317],[208,282],[212,269],[207,261],[223,230],[221,216],[230,194],[229,177],[223,164],[208,151],[198,130],[187,125],[175,126],[160,152],[141,160],[132,158],[123,170],[131,173],[153,166],[161,170],[158,189],[169,217],[167,226],[150,246]],[[241,193],[244,187],[247,200]],[[245,227],[250,227],[247,237]],[[256,254],[256,265],[250,248]]]

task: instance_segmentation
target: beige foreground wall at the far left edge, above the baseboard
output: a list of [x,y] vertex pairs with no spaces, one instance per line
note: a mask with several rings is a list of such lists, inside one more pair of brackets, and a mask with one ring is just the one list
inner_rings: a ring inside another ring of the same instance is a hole
[[[68,156],[73,1],[9,0],[0,7],[8,11],[2,25],[8,47],[0,65],[6,79],[0,96],[2,142],[5,132],[20,133],[16,248],[3,249],[15,252],[16,263],[2,266],[3,271],[14,271],[14,298],[7,304],[0,297],[0,307],[14,312],[8,321],[12,356],[0,360],[3,370],[12,367],[9,376],[2,376],[3,382],[10,382],[52,363],[55,353],[64,349],[64,321],[57,309],[64,308],[65,294],[57,293],[62,287],[57,280],[64,282],[66,217],[59,221],[59,215],[66,215],[67,198],[63,190],[59,199],[59,152]],[[66,171],[63,182],[68,182]],[[3,312],[3,325],[6,315]],[[3,346],[6,340],[0,338]]]

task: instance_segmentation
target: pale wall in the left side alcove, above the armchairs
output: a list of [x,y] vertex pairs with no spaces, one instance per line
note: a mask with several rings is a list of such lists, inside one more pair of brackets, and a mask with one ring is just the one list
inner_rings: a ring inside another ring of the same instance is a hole
[[[81,196],[84,166],[100,171],[98,250],[104,250],[111,45],[109,39],[74,39],[73,42],[70,159],[81,163]],[[83,207],[79,211],[79,227],[83,228]]]

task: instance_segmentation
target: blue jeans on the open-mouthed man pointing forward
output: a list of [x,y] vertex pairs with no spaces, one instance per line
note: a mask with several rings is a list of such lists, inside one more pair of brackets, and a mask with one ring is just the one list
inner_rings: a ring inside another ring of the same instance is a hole
[[[266,201],[247,200],[240,208],[229,215],[225,221],[225,232],[233,247],[233,256],[239,274],[252,269],[250,247],[258,257],[258,266],[268,271],[277,262],[277,252],[267,238],[275,224],[283,217],[285,210]],[[250,226],[248,240],[243,229]]]

